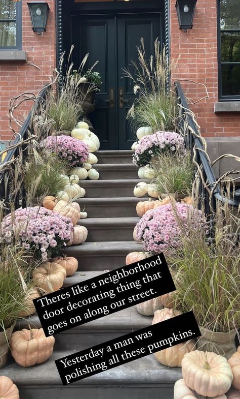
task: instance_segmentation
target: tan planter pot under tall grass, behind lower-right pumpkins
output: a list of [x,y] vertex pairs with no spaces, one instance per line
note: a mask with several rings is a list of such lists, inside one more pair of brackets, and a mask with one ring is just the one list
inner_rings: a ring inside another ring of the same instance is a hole
[[199,351],[215,352],[229,359],[236,352],[235,335],[236,330],[229,332],[213,332],[207,328],[200,327],[202,336],[197,340]]

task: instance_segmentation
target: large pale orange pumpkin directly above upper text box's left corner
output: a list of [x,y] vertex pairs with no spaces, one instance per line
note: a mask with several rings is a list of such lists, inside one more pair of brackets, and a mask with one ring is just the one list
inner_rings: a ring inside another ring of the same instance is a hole
[[45,262],[33,270],[32,281],[36,287],[49,293],[63,286],[66,275],[66,270],[58,263]]

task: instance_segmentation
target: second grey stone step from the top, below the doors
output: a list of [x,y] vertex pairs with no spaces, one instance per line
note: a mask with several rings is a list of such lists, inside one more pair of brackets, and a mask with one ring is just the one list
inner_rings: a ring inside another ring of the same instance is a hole
[[138,168],[133,164],[97,164],[93,165],[100,174],[100,180],[137,179]]

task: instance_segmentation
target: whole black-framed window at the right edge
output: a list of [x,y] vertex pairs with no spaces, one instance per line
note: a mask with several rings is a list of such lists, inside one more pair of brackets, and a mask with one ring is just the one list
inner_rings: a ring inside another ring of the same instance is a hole
[[220,99],[240,99],[240,0],[220,0]]

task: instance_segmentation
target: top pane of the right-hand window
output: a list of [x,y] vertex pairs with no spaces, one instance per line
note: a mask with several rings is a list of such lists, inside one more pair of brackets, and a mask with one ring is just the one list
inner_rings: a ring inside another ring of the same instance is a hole
[[221,29],[240,29],[239,0],[220,0]]

